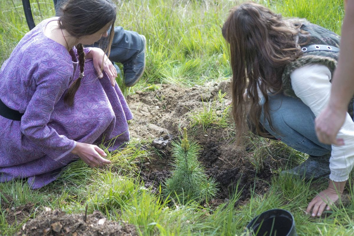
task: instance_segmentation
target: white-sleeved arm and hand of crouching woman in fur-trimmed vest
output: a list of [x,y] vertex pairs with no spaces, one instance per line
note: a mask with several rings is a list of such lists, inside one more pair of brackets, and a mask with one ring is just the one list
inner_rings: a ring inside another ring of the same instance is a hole
[[[317,117],[330,99],[331,72],[320,64],[310,64],[293,71],[290,75],[292,88],[304,104],[306,104]],[[343,127],[338,137],[346,140],[343,146],[332,145],[330,158],[329,187],[321,191],[309,203],[307,212],[312,210],[312,216],[321,216],[325,208],[337,201],[343,192],[344,185],[354,165],[354,122],[346,113]],[[338,194],[340,193],[340,194]]]

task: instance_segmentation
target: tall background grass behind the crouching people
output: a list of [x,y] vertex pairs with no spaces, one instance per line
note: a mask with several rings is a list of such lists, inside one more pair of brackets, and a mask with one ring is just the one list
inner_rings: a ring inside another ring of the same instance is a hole
[[[55,15],[51,0],[30,0],[35,22]],[[221,26],[240,1],[116,0],[116,24],[144,34],[147,65],[142,82],[204,84],[230,76]],[[340,34],[342,0],[258,0],[286,17],[307,18]],[[0,63],[28,31],[20,0],[0,1]]]

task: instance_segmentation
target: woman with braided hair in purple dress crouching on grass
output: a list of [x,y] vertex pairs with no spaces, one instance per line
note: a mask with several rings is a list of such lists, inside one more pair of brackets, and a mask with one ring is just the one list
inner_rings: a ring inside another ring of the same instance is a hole
[[129,140],[132,113],[114,66],[101,49],[82,47],[108,36],[115,5],[69,0],[62,10],[27,33],[0,69],[0,182],[27,178],[40,188],[77,157],[109,164],[93,143],[116,149]]

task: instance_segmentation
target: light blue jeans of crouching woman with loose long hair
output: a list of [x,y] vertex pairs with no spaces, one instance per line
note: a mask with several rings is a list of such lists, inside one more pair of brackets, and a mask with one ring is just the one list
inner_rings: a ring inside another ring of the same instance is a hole
[[270,134],[289,147],[309,155],[321,156],[331,151],[331,145],[318,141],[315,115],[300,99],[283,94],[269,95],[268,98],[274,130],[265,119],[263,110],[259,121]]

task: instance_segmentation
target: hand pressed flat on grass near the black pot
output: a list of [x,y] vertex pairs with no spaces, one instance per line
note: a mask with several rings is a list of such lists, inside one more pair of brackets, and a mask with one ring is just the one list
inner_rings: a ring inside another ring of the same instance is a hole
[[327,211],[329,211],[331,209],[331,206],[342,195],[346,182],[347,181],[334,182],[330,180],[328,188],[321,191],[318,195],[314,197],[314,199],[312,199],[306,209],[306,212],[310,213],[311,209],[313,209],[311,216],[320,217],[325,208]]

